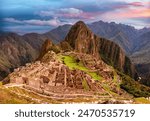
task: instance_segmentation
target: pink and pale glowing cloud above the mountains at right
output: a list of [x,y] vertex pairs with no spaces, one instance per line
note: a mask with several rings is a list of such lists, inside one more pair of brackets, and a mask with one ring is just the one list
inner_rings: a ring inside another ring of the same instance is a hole
[[98,16],[96,20],[102,19],[104,21],[109,22],[124,22],[129,23],[131,25],[135,25],[137,28],[149,26],[149,23],[145,23],[145,21],[142,21],[142,18],[143,20],[149,20],[150,8],[127,8],[122,10],[111,11]]

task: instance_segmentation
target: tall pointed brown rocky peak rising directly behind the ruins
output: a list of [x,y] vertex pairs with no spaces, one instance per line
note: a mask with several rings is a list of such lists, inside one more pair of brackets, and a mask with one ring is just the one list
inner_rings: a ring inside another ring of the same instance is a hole
[[98,56],[98,44],[95,41],[96,36],[82,21],[73,25],[65,38],[71,47],[78,53],[92,54]]

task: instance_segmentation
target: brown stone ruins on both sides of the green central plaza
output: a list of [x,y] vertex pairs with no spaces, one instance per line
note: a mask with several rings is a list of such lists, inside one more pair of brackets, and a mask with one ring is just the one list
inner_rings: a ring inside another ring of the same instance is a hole
[[[102,61],[97,61],[94,57],[79,54],[65,53],[73,56],[75,59],[82,61],[89,72],[95,72],[102,75],[103,80],[111,82],[113,79],[112,69]],[[103,81],[102,80],[102,81]],[[9,82],[15,84],[24,84],[26,88],[36,89],[38,91],[61,92],[70,89],[87,90],[88,92],[103,92],[101,84],[94,80],[89,74],[77,69],[69,69],[63,62],[57,59],[55,53],[48,52],[41,61],[28,63],[26,66],[15,69],[9,75]],[[85,84],[86,83],[86,84]],[[86,87],[85,87],[86,85]],[[68,92],[69,92],[68,91]],[[86,91],[87,92],[87,91]]]

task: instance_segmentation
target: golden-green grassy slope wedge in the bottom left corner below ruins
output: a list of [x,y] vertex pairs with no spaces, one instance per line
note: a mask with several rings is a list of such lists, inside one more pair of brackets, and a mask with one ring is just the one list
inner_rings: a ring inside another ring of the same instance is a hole
[[6,88],[0,82],[0,104],[39,104],[45,102],[58,103],[19,87]]

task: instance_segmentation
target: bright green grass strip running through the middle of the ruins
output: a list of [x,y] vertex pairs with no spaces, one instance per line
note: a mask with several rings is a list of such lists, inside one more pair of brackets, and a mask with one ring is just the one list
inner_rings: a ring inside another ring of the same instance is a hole
[[88,68],[86,68],[82,62],[77,62],[74,57],[71,56],[59,56],[59,59],[64,62],[71,70],[78,69],[89,74],[94,80],[102,80],[102,77],[98,75],[96,72],[90,72]]

